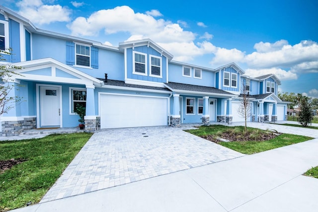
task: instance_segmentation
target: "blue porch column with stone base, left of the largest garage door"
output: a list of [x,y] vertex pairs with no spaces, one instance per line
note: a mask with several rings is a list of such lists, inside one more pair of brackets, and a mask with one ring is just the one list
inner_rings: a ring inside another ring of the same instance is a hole
[[94,89],[94,85],[86,85],[86,114],[84,116],[86,132],[93,132],[97,129]]

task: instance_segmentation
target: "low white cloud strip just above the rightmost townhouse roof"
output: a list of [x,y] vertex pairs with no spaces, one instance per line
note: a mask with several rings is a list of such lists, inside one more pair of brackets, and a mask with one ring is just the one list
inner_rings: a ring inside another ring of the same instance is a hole
[[280,80],[290,80],[290,79],[297,79],[297,74],[291,71],[285,71],[279,68],[271,68],[271,69],[246,69],[245,74],[251,77],[261,76],[273,73],[275,74]]

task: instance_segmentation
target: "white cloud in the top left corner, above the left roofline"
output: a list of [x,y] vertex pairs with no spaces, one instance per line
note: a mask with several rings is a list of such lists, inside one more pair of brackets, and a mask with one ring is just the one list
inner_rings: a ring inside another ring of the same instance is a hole
[[71,10],[59,4],[47,5],[42,0],[21,0],[16,3],[19,14],[35,24],[70,21]]

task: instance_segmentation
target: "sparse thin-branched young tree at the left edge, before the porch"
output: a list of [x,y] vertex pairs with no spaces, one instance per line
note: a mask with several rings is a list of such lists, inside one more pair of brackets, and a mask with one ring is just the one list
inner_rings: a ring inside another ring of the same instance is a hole
[[[3,55],[11,55],[11,51],[0,50],[0,61],[5,61]],[[0,64],[0,115],[7,113],[15,106],[16,102],[21,101],[21,98],[18,96],[8,95],[14,89],[14,86],[10,85],[8,81],[12,75],[20,75],[13,71],[18,69],[22,68],[10,64]]]

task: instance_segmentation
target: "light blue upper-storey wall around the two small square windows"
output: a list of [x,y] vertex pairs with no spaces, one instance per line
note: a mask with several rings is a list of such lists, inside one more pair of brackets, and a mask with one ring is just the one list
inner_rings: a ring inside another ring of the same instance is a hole
[[[190,66],[187,66],[190,67]],[[168,64],[169,69],[169,82],[178,82],[184,84],[194,84],[202,86],[215,86],[215,73],[212,71],[202,70],[201,79],[194,78],[194,68],[191,68],[191,77],[182,76],[183,67],[178,64]]]

